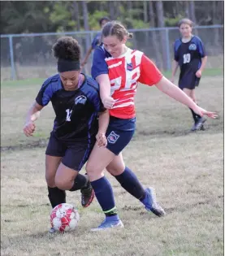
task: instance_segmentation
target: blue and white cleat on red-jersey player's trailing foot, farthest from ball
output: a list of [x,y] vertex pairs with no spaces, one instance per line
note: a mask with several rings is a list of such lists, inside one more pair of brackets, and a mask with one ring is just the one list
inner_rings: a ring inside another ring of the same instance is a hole
[[162,207],[156,201],[154,189],[147,188],[145,189],[145,191],[147,196],[147,202],[145,202],[145,209],[151,211],[152,213],[154,213],[154,215],[157,215],[158,217],[166,215],[165,210],[163,210]]

